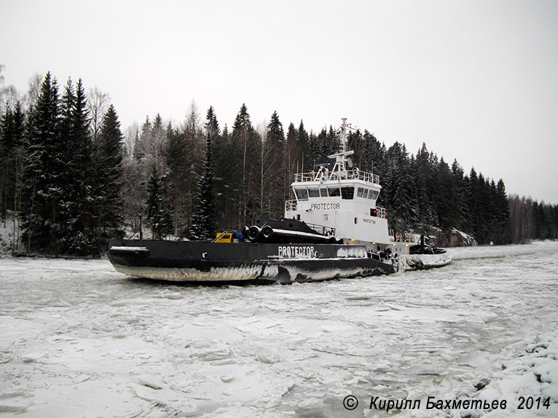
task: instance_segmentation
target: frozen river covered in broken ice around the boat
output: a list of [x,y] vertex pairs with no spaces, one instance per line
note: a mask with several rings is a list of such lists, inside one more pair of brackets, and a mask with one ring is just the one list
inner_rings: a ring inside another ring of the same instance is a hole
[[[455,414],[428,396],[474,396],[558,330],[558,242],[452,254],[424,272],[219,287],[130,279],[106,260],[1,259],[0,412],[383,417],[374,396],[421,400],[400,417]],[[556,413],[548,388],[552,408],[529,413]]]

